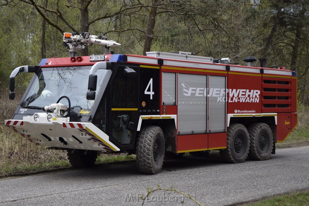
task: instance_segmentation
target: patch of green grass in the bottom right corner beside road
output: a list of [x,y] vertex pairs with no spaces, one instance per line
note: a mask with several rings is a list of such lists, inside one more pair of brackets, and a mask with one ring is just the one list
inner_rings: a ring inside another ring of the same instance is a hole
[[308,206],[309,205],[309,191],[297,191],[289,194],[277,195],[265,200],[255,203],[241,204],[246,206]]

